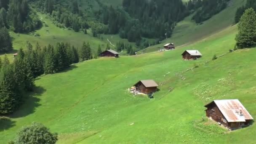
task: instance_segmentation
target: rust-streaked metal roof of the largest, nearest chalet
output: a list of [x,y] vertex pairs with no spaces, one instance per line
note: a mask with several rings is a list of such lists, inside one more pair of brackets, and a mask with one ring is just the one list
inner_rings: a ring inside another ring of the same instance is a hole
[[[245,122],[245,120],[253,120],[253,117],[238,99],[215,100],[213,102],[217,105],[228,122]],[[205,105],[205,107],[207,105]]]

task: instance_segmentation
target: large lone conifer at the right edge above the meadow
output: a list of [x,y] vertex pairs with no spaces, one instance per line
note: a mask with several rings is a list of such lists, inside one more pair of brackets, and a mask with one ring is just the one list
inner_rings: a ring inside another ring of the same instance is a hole
[[253,8],[245,11],[238,23],[237,48],[249,48],[256,44],[256,12]]

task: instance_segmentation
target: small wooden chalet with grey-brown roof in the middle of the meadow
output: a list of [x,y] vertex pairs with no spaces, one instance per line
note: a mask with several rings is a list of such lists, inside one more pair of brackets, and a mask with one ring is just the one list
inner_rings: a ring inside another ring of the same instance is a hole
[[140,80],[135,85],[136,91],[151,94],[157,91],[157,83],[154,80]]

